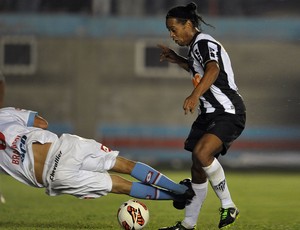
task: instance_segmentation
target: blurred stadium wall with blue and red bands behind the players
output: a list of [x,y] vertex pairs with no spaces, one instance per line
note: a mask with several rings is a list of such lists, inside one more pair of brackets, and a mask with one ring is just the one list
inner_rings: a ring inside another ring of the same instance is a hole
[[[5,105],[36,110],[58,134],[94,138],[156,167],[186,168],[196,114],[190,76],[159,62],[176,47],[165,15],[185,0],[0,0]],[[247,127],[230,169],[300,169],[300,1],[195,1],[229,53]]]

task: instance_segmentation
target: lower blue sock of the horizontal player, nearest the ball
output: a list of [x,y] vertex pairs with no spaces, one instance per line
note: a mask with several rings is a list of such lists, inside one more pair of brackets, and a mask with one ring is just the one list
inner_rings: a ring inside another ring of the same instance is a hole
[[130,196],[149,200],[173,200],[171,192],[141,182],[132,182]]

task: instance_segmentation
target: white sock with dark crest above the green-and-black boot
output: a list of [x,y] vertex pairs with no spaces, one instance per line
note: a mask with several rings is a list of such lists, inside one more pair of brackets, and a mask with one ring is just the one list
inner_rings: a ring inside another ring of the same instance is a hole
[[211,165],[203,167],[210,184],[221,201],[222,208],[235,207],[225,179],[224,170],[215,158]]

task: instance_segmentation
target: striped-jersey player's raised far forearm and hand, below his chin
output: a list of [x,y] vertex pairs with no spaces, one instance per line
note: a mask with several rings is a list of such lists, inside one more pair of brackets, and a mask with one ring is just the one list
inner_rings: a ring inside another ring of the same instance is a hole
[[183,68],[186,71],[190,71],[188,61],[185,57],[182,57],[178,55],[174,50],[170,49],[167,46],[164,45],[157,45],[158,48],[161,49],[160,59],[159,61],[168,61],[170,63],[175,63],[179,65],[181,68]]

